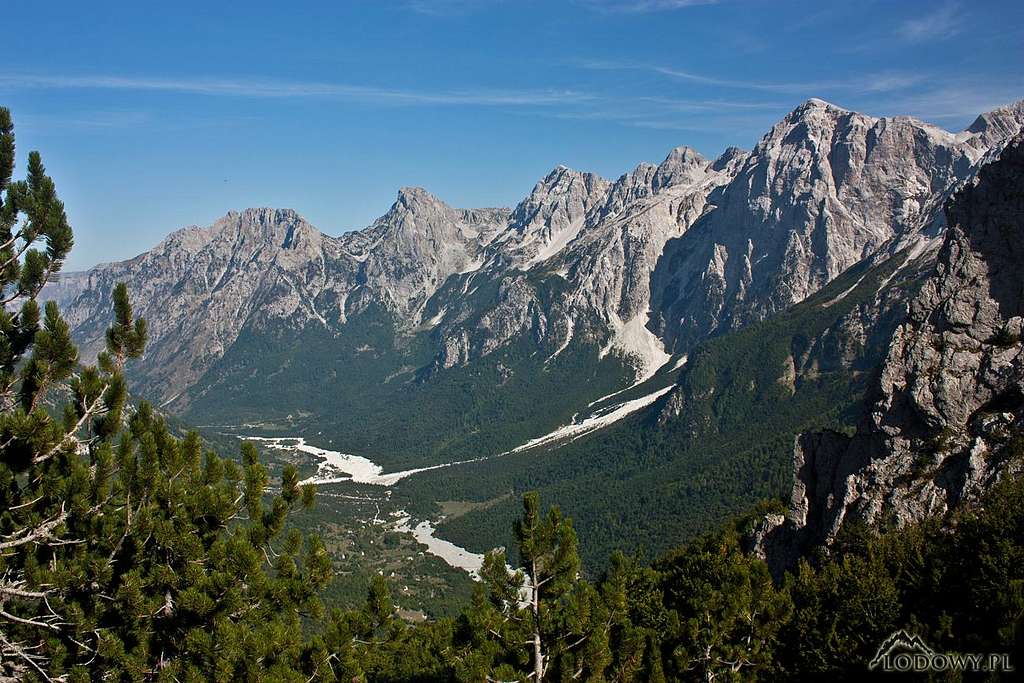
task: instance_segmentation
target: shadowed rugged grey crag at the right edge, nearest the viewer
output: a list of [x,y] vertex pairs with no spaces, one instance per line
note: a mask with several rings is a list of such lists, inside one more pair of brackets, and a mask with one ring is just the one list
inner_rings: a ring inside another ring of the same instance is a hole
[[856,434],[797,440],[790,514],[759,531],[776,569],[847,520],[918,520],[1024,467],[1008,449],[1024,427],[1024,136],[954,196],[946,218]]

